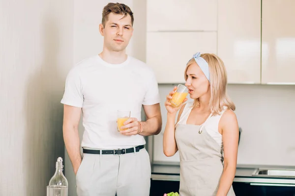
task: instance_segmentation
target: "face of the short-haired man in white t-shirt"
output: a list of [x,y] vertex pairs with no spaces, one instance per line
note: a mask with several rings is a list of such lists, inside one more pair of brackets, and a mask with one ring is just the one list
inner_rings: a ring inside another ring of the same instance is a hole
[[110,13],[105,26],[100,24],[99,30],[104,36],[104,46],[107,49],[122,51],[127,47],[133,33],[131,17]]

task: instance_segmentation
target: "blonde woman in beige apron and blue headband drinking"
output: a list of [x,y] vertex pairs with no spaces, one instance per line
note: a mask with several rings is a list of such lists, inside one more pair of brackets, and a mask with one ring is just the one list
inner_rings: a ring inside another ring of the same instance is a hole
[[[215,54],[194,54],[187,63],[185,86],[193,102],[174,108],[167,96],[163,138],[166,156],[180,155],[180,196],[235,196],[238,123],[226,94],[227,75]],[[185,99],[183,103],[186,101]],[[179,110],[180,109],[180,110]],[[176,113],[179,110],[175,125]]]

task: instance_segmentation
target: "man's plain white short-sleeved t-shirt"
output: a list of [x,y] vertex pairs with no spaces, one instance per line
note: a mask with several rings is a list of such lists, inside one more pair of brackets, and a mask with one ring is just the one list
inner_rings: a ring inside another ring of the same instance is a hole
[[61,103],[81,107],[85,128],[82,147],[116,149],[146,144],[142,135],[117,131],[117,110],[131,111],[141,121],[142,105],[160,102],[158,84],[150,67],[128,56],[109,64],[99,55],[74,66],[67,75]]

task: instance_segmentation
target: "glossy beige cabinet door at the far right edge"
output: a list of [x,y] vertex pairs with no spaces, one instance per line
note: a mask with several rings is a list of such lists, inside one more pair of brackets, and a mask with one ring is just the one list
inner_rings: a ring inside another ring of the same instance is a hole
[[295,84],[295,0],[262,1],[262,83]]

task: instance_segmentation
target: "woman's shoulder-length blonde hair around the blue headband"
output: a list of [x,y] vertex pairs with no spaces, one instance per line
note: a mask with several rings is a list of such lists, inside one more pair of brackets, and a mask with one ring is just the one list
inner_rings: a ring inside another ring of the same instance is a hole
[[[229,98],[226,92],[227,85],[227,73],[223,61],[215,54],[204,53],[201,54],[209,65],[210,74],[210,101],[209,106],[213,115],[220,114],[223,107],[226,106],[228,109],[235,110],[236,106]],[[191,64],[196,63],[195,59],[192,58],[187,64],[184,71],[184,79],[187,80],[187,68]],[[200,105],[199,98],[194,100],[193,107],[198,107]]]

